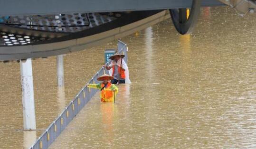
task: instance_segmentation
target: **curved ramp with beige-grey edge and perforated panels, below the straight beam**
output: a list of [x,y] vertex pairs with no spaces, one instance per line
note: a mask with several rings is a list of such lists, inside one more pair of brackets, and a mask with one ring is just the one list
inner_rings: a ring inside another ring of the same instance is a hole
[[[30,22],[33,26],[25,25],[29,21],[20,18],[22,17],[10,17],[10,21],[25,22],[23,25],[13,25],[15,23],[12,22],[11,27],[6,24],[0,27],[2,61],[56,56],[84,50],[152,26],[170,18],[170,15],[166,10],[150,10],[36,16],[31,20],[38,21]],[[80,25],[73,25],[72,22]]]

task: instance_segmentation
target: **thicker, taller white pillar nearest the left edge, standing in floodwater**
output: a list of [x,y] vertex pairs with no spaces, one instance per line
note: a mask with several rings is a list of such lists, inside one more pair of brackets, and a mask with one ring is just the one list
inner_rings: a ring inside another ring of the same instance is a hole
[[25,62],[20,61],[19,63],[22,87],[23,128],[25,130],[36,130],[32,61],[31,58],[28,58]]

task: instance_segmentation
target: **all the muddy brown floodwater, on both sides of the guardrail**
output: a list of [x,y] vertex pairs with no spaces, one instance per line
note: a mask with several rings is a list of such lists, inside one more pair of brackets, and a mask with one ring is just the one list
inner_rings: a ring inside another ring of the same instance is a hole
[[[166,20],[122,38],[132,84],[118,86],[116,104],[97,93],[51,149],[256,148],[255,24],[228,7],[204,8],[192,35]],[[115,46],[66,55],[65,88],[56,57],[32,62],[37,131],[22,130],[19,64],[0,64],[0,149],[31,146]]]

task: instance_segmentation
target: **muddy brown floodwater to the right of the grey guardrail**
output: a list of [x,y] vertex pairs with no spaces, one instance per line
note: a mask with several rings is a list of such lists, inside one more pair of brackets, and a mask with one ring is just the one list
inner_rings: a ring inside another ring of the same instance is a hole
[[232,32],[243,18],[215,10],[193,35],[165,21],[122,39],[133,83],[118,86],[116,104],[97,94],[51,149],[255,148],[255,28]]

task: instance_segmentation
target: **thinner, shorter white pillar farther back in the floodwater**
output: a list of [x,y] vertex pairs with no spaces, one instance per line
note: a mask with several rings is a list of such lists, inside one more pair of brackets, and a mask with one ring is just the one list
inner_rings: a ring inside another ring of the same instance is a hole
[[64,60],[63,55],[57,56],[57,80],[58,86],[64,86]]

